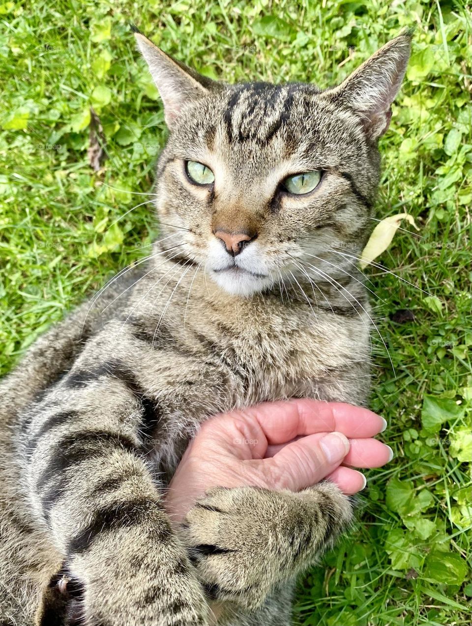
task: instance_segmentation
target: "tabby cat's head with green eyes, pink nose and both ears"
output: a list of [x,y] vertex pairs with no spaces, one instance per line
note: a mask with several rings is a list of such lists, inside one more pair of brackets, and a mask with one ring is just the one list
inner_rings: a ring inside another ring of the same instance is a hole
[[215,82],[136,39],[170,130],[156,182],[170,256],[249,296],[280,279],[323,280],[344,259],[333,250],[361,252],[411,32],[326,91]]

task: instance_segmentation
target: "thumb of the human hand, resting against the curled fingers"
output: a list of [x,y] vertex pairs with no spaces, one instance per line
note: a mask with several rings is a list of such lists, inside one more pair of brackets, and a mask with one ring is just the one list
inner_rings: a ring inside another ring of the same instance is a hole
[[349,452],[342,433],[312,434],[287,444],[274,457],[253,461],[259,465],[273,489],[298,491],[331,474]]

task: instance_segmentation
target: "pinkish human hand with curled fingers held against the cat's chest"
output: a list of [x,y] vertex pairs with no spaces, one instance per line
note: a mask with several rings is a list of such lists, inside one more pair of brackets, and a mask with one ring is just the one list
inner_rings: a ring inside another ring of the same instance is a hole
[[366,485],[353,467],[379,467],[391,449],[372,439],[386,426],[368,409],[311,399],[263,403],[202,424],[169,485],[167,510],[178,523],[212,487],[299,491],[324,478],[346,494]]

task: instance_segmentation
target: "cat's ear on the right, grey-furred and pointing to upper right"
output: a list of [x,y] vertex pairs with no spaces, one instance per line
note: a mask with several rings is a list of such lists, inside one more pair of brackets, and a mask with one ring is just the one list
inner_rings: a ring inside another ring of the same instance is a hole
[[334,105],[356,113],[371,141],[377,140],[389,127],[391,105],[406,72],[412,36],[413,29],[409,29],[392,39],[341,85],[322,93],[322,97]]

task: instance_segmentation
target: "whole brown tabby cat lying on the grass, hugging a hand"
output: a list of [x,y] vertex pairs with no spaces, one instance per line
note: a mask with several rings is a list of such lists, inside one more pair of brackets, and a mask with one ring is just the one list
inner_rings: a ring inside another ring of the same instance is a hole
[[217,83],[135,36],[170,130],[162,236],[1,385],[0,622],[208,625],[216,601],[218,623],[287,625],[294,577],[349,523],[349,499],[330,483],[218,488],[176,530],[163,490],[212,414],[366,403],[353,258],[411,33],[326,91]]

